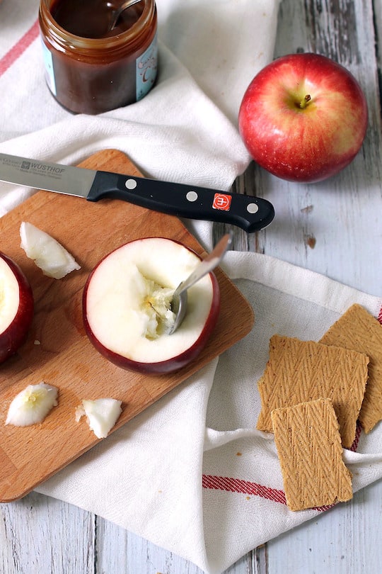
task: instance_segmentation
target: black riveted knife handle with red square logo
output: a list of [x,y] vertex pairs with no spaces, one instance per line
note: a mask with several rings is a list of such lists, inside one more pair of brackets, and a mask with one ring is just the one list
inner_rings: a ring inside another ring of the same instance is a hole
[[258,231],[274,218],[266,199],[168,181],[97,171],[88,201],[113,198],[182,218],[218,221]]

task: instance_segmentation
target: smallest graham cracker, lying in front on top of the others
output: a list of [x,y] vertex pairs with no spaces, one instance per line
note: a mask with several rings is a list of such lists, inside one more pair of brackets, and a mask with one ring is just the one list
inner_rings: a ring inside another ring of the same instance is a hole
[[352,474],[342,459],[335,410],[320,398],[272,410],[272,425],[290,510],[350,500]]

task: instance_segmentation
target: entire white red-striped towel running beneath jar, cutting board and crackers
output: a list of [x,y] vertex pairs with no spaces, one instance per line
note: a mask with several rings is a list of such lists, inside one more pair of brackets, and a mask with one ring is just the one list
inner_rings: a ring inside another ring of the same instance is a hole
[[[250,79],[272,60],[278,0],[157,6],[157,85],[139,103],[91,117],[71,116],[47,91],[38,0],[4,0],[0,151],[78,163],[113,147],[151,177],[230,188],[250,160],[238,106]],[[30,193],[0,184],[0,215]],[[211,226],[193,229],[210,246]],[[39,488],[208,573],[317,515],[287,510],[272,437],[254,430],[270,334],[318,339],[351,303],[375,315],[381,308],[377,298],[263,255],[230,252],[225,266],[253,305],[253,332]],[[346,453],[356,490],[382,475],[381,432],[361,435],[357,453]]]

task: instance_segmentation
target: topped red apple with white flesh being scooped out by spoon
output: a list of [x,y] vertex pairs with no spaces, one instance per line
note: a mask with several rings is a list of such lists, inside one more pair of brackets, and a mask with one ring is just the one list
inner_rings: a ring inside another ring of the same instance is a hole
[[179,242],[147,237],[108,254],[83,291],[83,323],[94,347],[112,363],[141,373],[169,373],[195,359],[214,330],[220,308],[213,273],[188,291],[187,314],[168,334],[173,291],[199,256]]

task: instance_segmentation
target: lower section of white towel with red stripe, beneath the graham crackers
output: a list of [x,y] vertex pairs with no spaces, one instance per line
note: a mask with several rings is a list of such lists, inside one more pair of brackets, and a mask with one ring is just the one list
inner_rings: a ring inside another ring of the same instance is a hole
[[[273,436],[255,429],[272,334],[318,340],[353,303],[382,317],[382,299],[263,254],[228,252],[223,267],[253,306],[252,332],[37,489],[210,574],[323,512],[287,508]],[[355,447],[354,491],[382,477],[382,424]]]

